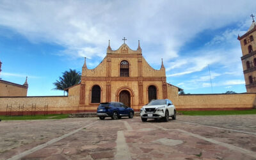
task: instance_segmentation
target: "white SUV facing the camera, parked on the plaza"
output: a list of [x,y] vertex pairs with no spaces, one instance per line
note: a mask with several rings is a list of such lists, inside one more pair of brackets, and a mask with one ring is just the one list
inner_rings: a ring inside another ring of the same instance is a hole
[[176,119],[176,109],[169,99],[151,100],[140,109],[140,116],[143,122],[146,122],[147,118],[163,118],[165,122],[168,122],[169,116],[173,120]]

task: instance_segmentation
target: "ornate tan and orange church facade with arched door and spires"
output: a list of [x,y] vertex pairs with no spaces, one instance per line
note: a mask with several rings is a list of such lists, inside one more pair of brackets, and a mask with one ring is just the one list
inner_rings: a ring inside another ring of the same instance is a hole
[[152,99],[170,99],[182,90],[166,83],[163,60],[159,70],[147,63],[140,41],[136,51],[125,43],[115,51],[109,45],[105,58],[93,69],[86,67],[85,59],[81,84],[68,88],[69,95],[76,94],[75,88],[79,88],[79,108],[84,111],[95,111],[100,102],[113,101],[138,111]]

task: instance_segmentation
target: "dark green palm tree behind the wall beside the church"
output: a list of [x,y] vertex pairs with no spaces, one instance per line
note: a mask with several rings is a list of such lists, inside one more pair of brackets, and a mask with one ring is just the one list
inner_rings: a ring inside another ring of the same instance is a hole
[[[65,88],[79,84],[81,81],[81,72],[69,69],[62,73],[62,77],[59,77],[59,81],[56,80],[54,84],[54,90],[63,90],[65,95]],[[67,91],[68,92],[68,91]]]

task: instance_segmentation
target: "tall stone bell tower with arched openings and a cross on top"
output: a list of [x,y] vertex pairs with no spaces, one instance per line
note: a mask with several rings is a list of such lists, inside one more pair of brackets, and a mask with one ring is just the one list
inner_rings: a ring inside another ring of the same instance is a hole
[[256,93],[256,24],[252,17],[252,25],[248,31],[243,35],[237,37],[240,41],[242,54],[241,57],[243,64],[244,80],[246,91],[248,93]]

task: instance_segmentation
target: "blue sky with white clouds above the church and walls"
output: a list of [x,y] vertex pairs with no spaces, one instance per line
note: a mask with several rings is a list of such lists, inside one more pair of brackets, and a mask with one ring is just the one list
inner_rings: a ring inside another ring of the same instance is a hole
[[[256,14],[255,0],[0,1],[0,78],[23,84],[28,96],[53,90],[69,68],[95,68],[125,42],[138,40],[155,69],[185,93],[246,92],[241,46]],[[211,75],[211,76],[210,76]]]

